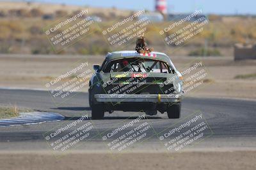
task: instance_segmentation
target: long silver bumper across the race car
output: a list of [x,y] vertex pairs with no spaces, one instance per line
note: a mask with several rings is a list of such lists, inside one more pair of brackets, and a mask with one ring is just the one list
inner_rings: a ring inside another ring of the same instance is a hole
[[178,94],[95,94],[97,102],[127,102],[127,103],[178,103]]

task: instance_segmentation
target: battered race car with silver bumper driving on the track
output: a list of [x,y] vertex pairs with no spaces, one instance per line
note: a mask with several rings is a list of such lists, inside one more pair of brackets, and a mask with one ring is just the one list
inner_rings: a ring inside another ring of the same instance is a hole
[[182,75],[166,54],[111,52],[93,69],[88,90],[92,119],[116,110],[147,115],[159,111],[167,112],[168,118],[180,118]]

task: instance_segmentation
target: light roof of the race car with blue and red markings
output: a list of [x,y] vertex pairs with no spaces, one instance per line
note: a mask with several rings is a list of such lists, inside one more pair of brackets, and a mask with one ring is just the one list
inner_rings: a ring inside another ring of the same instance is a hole
[[164,60],[165,62],[170,62],[170,57],[168,57],[165,53],[161,53],[161,52],[138,53],[134,50],[111,52],[111,53],[108,53],[108,55],[106,56],[106,59],[115,60],[115,59],[131,58],[131,57]]

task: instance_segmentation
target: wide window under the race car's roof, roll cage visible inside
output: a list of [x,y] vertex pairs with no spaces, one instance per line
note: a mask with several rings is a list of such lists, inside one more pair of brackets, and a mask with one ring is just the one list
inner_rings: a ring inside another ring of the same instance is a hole
[[150,72],[150,73],[168,73],[168,64],[161,60],[154,59],[118,59],[113,60],[105,69],[106,72]]

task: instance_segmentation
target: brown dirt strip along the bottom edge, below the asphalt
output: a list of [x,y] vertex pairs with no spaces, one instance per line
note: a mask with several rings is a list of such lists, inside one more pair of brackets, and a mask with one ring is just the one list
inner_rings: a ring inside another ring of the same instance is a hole
[[[160,160],[160,161],[159,161]],[[0,153],[1,169],[256,169],[256,152]]]

